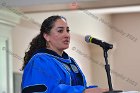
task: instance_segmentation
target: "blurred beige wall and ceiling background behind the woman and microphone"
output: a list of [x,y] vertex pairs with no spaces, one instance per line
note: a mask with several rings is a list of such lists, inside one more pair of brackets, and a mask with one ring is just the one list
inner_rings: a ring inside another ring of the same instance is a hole
[[140,0],[0,0],[0,93],[20,93],[24,53],[51,15],[66,17],[66,52],[88,85],[108,88],[102,48],[84,40],[91,35],[114,46],[108,52],[113,88],[140,91]]

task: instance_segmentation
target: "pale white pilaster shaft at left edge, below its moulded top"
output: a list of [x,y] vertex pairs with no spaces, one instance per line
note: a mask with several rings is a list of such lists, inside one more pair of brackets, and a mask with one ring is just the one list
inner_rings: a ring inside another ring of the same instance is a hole
[[[5,24],[0,23],[0,39],[4,39],[2,43],[4,43],[5,47],[7,48],[1,48],[1,65],[0,65],[0,91],[1,92],[8,92],[13,93],[13,72],[12,72],[12,55],[8,53],[8,50],[12,50],[12,40],[11,40],[11,26],[7,26]],[[8,41],[8,46],[7,42]],[[0,46],[4,46],[0,45]],[[8,59],[8,60],[7,60]],[[5,81],[6,80],[6,81]]]

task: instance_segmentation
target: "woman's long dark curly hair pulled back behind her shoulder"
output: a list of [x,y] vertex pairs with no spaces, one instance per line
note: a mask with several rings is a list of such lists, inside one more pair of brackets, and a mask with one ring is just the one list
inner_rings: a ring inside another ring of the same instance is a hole
[[24,70],[25,66],[27,65],[28,61],[31,59],[35,51],[41,48],[47,48],[47,41],[43,37],[43,34],[44,33],[49,34],[54,26],[54,23],[58,19],[66,20],[63,16],[58,16],[58,15],[50,16],[44,20],[44,22],[41,25],[40,34],[38,34],[36,37],[32,39],[32,41],[30,42],[29,50],[25,52],[22,70]]

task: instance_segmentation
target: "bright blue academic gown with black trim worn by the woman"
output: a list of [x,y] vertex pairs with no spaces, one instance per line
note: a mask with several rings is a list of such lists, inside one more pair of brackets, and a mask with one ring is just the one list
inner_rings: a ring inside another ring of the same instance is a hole
[[[64,64],[75,65],[73,74]],[[75,73],[80,75],[79,84],[74,81]],[[82,93],[86,89],[86,80],[74,59],[66,53],[60,57],[51,50],[39,50],[24,68],[21,88],[22,93]]]

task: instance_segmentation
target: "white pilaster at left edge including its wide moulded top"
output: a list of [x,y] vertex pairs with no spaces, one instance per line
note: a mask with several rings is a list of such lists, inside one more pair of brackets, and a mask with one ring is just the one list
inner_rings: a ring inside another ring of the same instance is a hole
[[[19,17],[14,13],[0,9],[0,38],[5,39],[6,48],[3,49],[3,54],[0,55],[3,61],[1,61],[1,78],[0,90],[1,92],[13,93],[13,49],[12,49],[12,29],[19,22]],[[2,42],[1,42],[2,43]],[[5,58],[4,58],[5,57]],[[1,60],[1,59],[0,59]],[[5,60],[5,61],[4,61]],[[6,63],[3,63],[6,62]],[[6,80],[6,81],[4,81]]]

